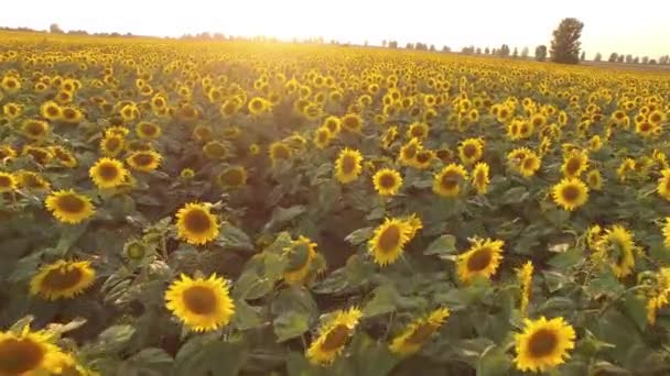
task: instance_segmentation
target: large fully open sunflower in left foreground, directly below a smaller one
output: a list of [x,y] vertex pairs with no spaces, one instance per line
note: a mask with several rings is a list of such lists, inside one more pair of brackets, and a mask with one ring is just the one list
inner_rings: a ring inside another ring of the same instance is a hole
[[196,332],[226,327],[235,314],[229,286],[216,274],[207,279],[182,274],[165,291],[165,307]]

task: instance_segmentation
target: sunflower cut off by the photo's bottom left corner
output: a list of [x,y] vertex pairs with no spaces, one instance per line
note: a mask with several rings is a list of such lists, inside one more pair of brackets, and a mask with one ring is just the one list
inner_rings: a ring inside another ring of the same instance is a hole
[[46,332],[0,332],[0,375],[61,375],[65,355]]

